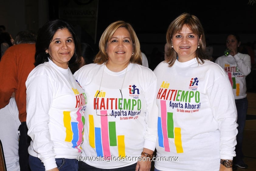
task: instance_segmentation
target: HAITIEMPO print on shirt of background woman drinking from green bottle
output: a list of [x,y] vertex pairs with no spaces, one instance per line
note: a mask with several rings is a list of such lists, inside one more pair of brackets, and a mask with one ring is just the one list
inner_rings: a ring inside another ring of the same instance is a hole
[[224,65],[224,70],[228,75],[230,84],[233,89],[236,89],[236,96],[240,93],[240,84],[236,83],[236,77],[244,77],[237,66],[230,66],[230,64]]

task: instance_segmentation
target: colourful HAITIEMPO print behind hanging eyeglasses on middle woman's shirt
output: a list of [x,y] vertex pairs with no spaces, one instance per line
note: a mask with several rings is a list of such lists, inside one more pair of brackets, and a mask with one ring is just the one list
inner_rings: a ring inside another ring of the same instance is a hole
[[[136,85],[129,86],[129,99],[106,98],[107,92],[97,90],[94,97],[94,109],[97,115],[89,115],[89,143],[95,148],[97,156],[111,157],[110,146],[116,147],[118,156],[125,157],[125,136],[116,134],[116,122],[109,117],[119,120],[137,119],[141,113],[140,90]],[[109,96],[108,96],[109,97]],[[110,112],[109,112],[110,111]],[[100,127],[95,127],[94,117],[100,117]]]

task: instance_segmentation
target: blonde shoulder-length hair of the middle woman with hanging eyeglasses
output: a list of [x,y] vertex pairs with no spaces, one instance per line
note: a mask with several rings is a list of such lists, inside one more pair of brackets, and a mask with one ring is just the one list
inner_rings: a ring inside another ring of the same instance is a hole
[[133,43],[133,55],[130,59],[131,63],[137,63],[142,64],[142,58],[141,58],[141,51],[140,51],[140,42],[137,38],[137,35],[135,31],[133,30],[133,27],[122,20],[115,21],[111,23],[105,31],[102,33],[101,38],[99,40],[99,52],[96,54],[94,58],[94,63],[97,64],[103,64],[108,60],[108,54],[106,53],[107,48],[107,42],[110,40],[110,38],[114,35],[116,30],[120,27],[126,28],[128,32],[130,33],[132,43]]

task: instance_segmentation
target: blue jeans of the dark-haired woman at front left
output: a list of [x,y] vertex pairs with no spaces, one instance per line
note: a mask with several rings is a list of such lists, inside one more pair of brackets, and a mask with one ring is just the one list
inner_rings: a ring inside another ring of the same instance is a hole
[[[55,161],[59,171],[78,171],[77,159],[57,158]],[[29,166],[32,171],[45,171],[41,160],[31,155],[29,155]]]

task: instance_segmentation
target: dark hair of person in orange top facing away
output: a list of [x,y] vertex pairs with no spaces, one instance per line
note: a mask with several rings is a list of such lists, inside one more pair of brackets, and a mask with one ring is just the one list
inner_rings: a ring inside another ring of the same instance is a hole
[[36,34],[30,30],[20,31],[14,39],[15,44],[36,43]]

